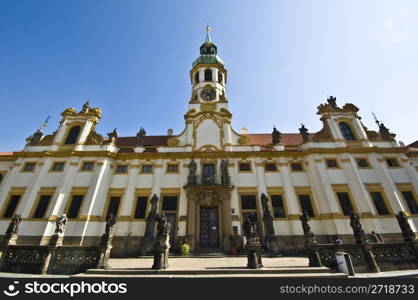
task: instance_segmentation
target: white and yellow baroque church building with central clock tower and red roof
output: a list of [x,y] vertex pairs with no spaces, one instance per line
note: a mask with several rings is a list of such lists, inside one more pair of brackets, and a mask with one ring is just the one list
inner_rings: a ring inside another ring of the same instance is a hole
[[185,128],[178,135],[103,137],[101,110],[66,109],[51,134],[38,130],[22,151],[0,153],[0,230],[22,222],[17,244],[46,245],[65,213],[65,245],[94,245],[117,216],[112,255],[149,252],[156,213],[165,213],[176,250],[229,252],[243,244],[252,214],[272,252],[303,248],[306,212],[320,243],[353,242],[349,215],[367,233],[401,241],[396,216],[418,228],[418,146],[405,147],[380,122],[368,130],[351,103],[318,106],[323,128],[309,133],[238,133],[228,109],[228,74],[209,32],[190,70]]

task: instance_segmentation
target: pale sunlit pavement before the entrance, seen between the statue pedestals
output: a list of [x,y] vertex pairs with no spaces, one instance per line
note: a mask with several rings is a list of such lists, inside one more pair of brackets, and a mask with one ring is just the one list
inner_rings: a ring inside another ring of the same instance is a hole
[[[111,268],[151,268],[153,259],[147,258],[113,258]],[[247,266],[246,257],[170,257],[170,270],[199,270],[243,268]],[[308,259],[304,257],[263,257],[265,268],[307,267]]]

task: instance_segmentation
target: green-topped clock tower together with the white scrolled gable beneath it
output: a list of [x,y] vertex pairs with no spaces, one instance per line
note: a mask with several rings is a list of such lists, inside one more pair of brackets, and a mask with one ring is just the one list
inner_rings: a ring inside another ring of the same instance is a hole
[[248,137],[231,126],[232,114],[225,91],[227,71],[210,38],[209,26],[200,55],[192,64],[190,79],[192,96],[184,115],[186,128],[181,134],[170,137],[167,144],[185,147],[186,151],[204,152],[232,151],[233,147],[247,144]]

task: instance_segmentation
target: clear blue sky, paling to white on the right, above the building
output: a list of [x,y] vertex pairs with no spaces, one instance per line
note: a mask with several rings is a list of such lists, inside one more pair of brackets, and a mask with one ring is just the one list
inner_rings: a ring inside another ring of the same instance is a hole
[[0,151],[20,150],[51,115],[91,100],[97,130],[184,128],[207,23],[228,70],[233,126],[249,133],[322,128],[327,96],[418,139],[416,0],[1,0]]

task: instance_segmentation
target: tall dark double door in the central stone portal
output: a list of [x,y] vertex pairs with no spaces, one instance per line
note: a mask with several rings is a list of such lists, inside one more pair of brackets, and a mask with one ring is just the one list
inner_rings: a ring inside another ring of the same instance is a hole
[[218,206],[200,206],[200,248],[219,248],[218,219]]

